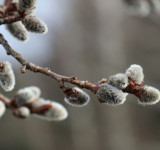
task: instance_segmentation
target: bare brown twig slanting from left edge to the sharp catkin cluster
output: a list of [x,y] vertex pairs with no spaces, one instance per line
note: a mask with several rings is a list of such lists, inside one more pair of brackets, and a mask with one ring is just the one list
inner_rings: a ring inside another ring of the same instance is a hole
[[26,59],[24,59],[21,56],[21,54],[17,53],[14,49],[11,48],[11,46],[8,44],[7,40],[5,40],[5,38],[2,34],[0,34],[0,44],[4,47],[7,55],[11,55],[22,66],[24,66],[22,68],[23,73],[25,72],[25,69],[28,69],[32,72],[41,73],[46,76],[49,76],[49,77],[55,79],[59,83],[60,88],[62,88],[63,90],[64,90],[63,83],[68,82],[68,83],[77,85],[80,88],[86,88],[86,89],[89,89],[90,91],[96,93],[96,84],[90,83],[89,81],[81,81],[81,80],[77,79],[76,77],[67,77],[67,76],[59,75],[59,74],[51,71],[48,68],[43,68],[43,67],[37,66],[37,65],[27,61]]

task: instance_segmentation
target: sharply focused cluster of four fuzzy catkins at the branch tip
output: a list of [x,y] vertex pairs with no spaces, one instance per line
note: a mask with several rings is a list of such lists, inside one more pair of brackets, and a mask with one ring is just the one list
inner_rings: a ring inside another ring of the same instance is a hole
[[128,93],[136,95],[142,105],[157,103],[160,100],[160,91],[143,85],[143,80],[142,67],[131,65],[125,73],[113,75],[105,83],[100,82],[96,95],[100,102],[113,106],[123,104]]

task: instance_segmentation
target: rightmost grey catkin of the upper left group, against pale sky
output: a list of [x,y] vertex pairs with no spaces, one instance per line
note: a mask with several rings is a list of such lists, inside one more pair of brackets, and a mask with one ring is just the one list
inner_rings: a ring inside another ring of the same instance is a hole
[[48,32],[46,24],[42,20],[33,16],[26,17],[23,21],[23,24],[25,25],[26,29],[30,32],[42,34]]

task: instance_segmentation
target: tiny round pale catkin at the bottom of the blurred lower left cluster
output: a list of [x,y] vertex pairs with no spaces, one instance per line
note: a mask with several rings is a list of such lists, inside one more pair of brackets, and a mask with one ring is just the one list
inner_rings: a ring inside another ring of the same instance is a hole
[[22,118],[27,118],[30,116],[30,110],[27,107],[20,107],[16,110],[16,114]]

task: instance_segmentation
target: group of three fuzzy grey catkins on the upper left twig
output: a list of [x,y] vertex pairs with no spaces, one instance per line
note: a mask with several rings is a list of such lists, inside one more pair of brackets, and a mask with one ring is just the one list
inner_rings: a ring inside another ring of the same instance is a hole
[[11,24],[7,24],[7,30],[17,39],[26,41],[29,38],[29,32],[47,33],[48,29],[46,24],[32,16],[35,10],[36,0],[13,0],[17,3],[17,9],[19,14],[24,14],[25,18],[22,21],[17,21]]

